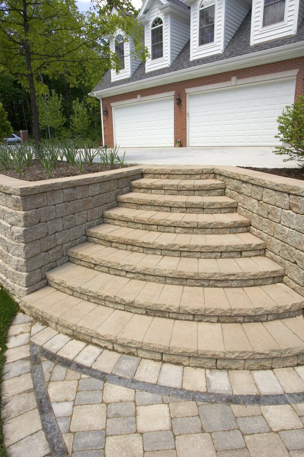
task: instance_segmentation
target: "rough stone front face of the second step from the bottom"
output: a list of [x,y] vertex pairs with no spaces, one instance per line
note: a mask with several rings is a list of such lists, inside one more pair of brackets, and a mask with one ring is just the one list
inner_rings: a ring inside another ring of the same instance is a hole
[[[165,305],[160,305],[159,307],[164,309],[157,309],[156,304],[155,308],[148,307],[148,303],[143,303],[138,300],[127,300],[122,297],[104,295],[99,292],[89,291],[86,287],[83,286],[74,286],[68,282],[61,281],[60,284],[54,280],[54,278],[48,279],[49,285],[54,289],[60,290],[61,292],[73,295],[77,298],[90,301],[92,303],[99,304],[108,308],[115,310],[128,311],[133,314],[140,314],[144,316],[152,317],[161,317],[164,319],[178,319],[186,321],[196,321],[196,322],[213,322],[213,323],[243,323],[243,322],[265,322],[273,321],[277,319],[287,319],[288,317],[294,317],[302,314],[302,308],[287,311],[284,313],[268,313],[268,314],[256,314],[256,315],[228,315],[227,310],[221,310],[223,314],[214,315],[214,314],[194,314],[194,313],[180,313],[179,305],[176,309],[171,307],[167,309]],[[91,293],[89,293],[91,292]],[[226,313],[226,314],[224,314]]]

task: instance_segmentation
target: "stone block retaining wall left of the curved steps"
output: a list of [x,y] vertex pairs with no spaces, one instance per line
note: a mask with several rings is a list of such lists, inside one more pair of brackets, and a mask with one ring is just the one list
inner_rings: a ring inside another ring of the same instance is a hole
[[15,297],[47,284],[46,272],[67,261],[67,249],[117,206],[141,168],[28,182],[0,177],[0,282]]

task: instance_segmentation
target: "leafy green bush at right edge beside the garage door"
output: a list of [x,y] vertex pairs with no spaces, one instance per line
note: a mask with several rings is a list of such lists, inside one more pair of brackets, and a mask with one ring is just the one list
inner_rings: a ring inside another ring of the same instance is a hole
[[295,160],[304,168],[304,97],[299,95],[293,105],[286,106],[278,117],[278,138],[283,145],[276,146],[275,154],[288,158],[283,162]]

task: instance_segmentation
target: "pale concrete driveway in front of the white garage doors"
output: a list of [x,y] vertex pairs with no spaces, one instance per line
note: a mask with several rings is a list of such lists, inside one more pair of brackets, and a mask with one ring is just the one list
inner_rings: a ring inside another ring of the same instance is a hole
[[128,164],[234,165],[242,167],[297,167],[296,162],[283,162],[274,147],[140,147],[120,148],[126,151]]

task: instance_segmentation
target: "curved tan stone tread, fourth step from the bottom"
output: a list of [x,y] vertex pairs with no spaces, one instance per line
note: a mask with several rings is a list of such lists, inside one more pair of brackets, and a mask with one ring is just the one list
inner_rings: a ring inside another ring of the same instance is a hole
[[99,240],[162,250],[221,252],[265,248],[265,242],[249,232],[222,235],[175,234],[103,223],[89,228],[86,233]]

